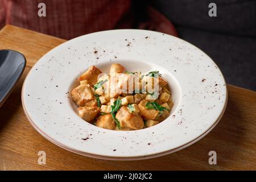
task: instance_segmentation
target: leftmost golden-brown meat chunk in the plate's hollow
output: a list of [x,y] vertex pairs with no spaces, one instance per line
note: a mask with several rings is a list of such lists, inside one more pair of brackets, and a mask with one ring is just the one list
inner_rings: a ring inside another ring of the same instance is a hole
[[78,106],[85,106],[85,103],[93,100],[94,94],[90,85],[79,85],[71,92],[73,101],[76,102]]

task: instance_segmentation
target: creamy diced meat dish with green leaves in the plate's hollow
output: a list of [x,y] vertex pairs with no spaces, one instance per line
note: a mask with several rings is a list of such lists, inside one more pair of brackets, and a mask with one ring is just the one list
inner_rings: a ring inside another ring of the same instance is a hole
[[173,105],[168,82],[158,72],[127,72],[112,64],[110,73],[94,65],[79,78],[72,99],[79,116],[109,130],[140,130],[168,117]]

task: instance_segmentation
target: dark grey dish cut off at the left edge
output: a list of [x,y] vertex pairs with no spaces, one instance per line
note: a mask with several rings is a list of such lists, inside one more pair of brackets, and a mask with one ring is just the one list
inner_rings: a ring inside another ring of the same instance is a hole
[[26,67],[26,58],[13,50],[0,51],[0,106],[9,96]]

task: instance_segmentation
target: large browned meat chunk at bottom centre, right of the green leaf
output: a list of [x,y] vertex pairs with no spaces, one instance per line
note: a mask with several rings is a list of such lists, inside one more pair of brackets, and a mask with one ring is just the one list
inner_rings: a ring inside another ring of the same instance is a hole
[[144,122],[140,115],[131,114],[127,109],[127,106],[122,106],[115,117],[120,122],[122,128],[129,127],[134,130],[143,129]]

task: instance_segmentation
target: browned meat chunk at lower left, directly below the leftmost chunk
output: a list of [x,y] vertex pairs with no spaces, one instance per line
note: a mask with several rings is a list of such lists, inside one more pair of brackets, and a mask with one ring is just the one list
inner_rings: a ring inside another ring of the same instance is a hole
[[79,112],[79,116],[87,122],[92,121],[100,112],[99,107],[90,106],[79,107],[77,110]]

